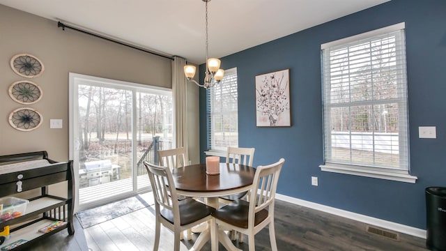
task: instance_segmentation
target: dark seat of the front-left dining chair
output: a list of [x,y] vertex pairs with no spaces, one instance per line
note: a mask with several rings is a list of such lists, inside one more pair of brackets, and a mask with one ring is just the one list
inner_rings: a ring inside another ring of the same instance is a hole
[[[196,201],[192,198],[187,198],[178,201],[180,208],[180,225],[188,225],[192,222],[196,222],[201,218],[205,218],[215,211],[215,208],[206,206],[205,204]],[[162,218],[174,224],[174,213],[167,209],[161,210]]]

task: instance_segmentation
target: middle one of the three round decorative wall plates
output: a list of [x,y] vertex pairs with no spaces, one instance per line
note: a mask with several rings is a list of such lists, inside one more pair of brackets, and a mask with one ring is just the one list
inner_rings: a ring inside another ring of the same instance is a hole
[[20,104],[31,105],[42,98],[43,91],[38,84],[27,80],[14,82],[9,86],[9,96]]

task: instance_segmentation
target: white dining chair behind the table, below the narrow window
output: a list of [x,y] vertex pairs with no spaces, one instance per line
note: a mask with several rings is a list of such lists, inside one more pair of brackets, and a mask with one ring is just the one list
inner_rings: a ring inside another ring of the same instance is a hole
[[[252,167],[252,163],[254,162],[254,151],[256,149],[254,148],[242,148],[242,147],[231,147],[228,146],[226,151],[226,164],[233,163],[233,164],[240,164],[240,165],[248,165],[249,167]],[[247,195],[247,192],[240,192],[235,195],[227,195],[227,196],[221,196],[219,198],[220,202],[224,204],[229,204],[232,201],[236,199],[242,199]],[[236,239],[236,232],[230,231],[229,236],[231,240]],[[243,235],[238,233],[238,242],[243,243]]]

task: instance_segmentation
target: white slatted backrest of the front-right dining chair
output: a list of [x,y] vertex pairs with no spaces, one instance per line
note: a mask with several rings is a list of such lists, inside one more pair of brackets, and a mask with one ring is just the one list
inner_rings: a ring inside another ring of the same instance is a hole
[[[279,181],[279,174],[284,162],[284,158],[281,158],[274,164],[257,167],[254,181],[252,183],[252,191],[250,192],[248,199],[248,215],[254,215],[268,207],[268,215],[274,218],[274,202],[277,182]],[[248,226],[254,227],[254,217],[248,218]]]

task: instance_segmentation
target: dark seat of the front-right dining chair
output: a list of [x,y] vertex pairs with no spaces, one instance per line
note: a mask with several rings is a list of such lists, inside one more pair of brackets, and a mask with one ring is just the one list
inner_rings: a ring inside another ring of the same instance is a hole
[[[248,211],[249,202],[243,199],[236,199],[230,204],[223,206],[222,208],[215,210],[212,215],[218,220],[229,223],[236,227],[241,227],[244,229],[248,228]],[[256,213],[254,218],[254,226],[259,225],[268,217],[268,211],[262,209]]]

